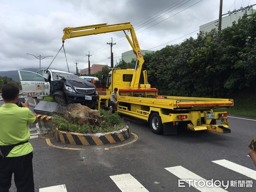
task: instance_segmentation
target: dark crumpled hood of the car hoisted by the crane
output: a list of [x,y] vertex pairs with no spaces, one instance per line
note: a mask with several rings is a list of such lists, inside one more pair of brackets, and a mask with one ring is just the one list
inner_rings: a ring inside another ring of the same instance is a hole
[[90,82],[88,82],[80,77],[67,77],[67,78],[61,79],[61,81],[64,81],[65,84],[70,85],[72,87],[95,88],[94,84],[91,84]]

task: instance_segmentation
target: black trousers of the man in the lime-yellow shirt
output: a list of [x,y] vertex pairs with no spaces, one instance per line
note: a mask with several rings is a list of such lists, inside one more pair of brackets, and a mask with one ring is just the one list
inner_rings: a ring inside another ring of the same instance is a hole
[[0,159],[0,192],[9,192],[12,173],[17,192],[34,192],[33,153]]

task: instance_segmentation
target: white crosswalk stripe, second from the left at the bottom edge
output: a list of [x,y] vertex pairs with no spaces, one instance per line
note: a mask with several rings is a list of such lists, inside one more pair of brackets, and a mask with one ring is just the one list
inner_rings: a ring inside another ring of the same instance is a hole
[[148,190],[133,176],[131,176],[131,174],[112,175],[109,177],[116,183],[122,192],[148,192]]

